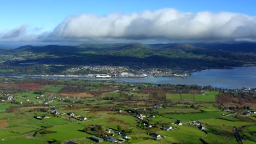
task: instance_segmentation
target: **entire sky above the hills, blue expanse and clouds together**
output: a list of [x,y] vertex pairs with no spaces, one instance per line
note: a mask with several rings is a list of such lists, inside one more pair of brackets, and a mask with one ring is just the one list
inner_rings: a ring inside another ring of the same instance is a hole
[[0,44],[256,41],[254,0],[1,0]]

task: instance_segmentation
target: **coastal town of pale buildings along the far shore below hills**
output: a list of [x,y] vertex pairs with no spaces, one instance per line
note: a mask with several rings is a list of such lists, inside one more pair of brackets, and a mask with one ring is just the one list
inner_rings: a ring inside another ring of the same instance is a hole
[[[47,65],[50,66],[50,65]],[[64,66],[64,65],[57,65]],[[87,71],[88,74],[79,74]],[[84,78],[144,78],[147,76],[153,77],[182,77],[185,78],[190,76],[188,71],[183,72],[182,70],[172,70],[163,68],[152,68],[152,69],[131,69],[129,67],[109,66],[109,65],[86,65],[69,68],[63,71],[63,74],[55,75],[26,75],[34,77],[84,77]]]

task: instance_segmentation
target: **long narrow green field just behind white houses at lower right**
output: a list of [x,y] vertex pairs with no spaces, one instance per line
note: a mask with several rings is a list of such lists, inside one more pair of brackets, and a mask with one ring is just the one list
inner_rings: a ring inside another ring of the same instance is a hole
[[204,113],[187,113],[187,114],[165,115],[165,116],[170,118],[175,118],[175,119],[197,120],[197,119],[218,118],[218,117],[221,117],[222,115],[218,112],[204,112]]

